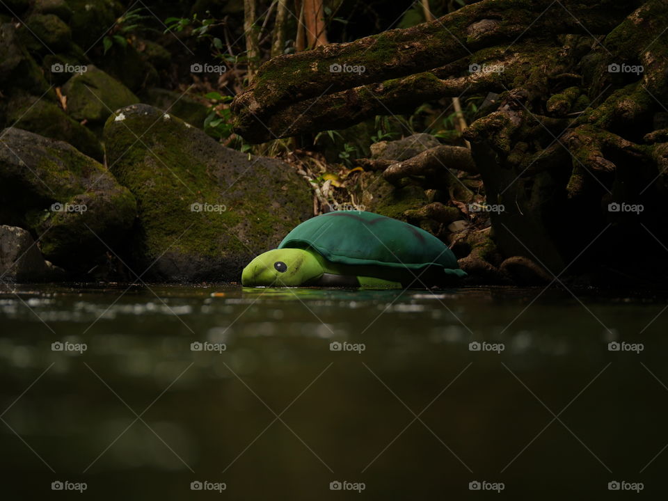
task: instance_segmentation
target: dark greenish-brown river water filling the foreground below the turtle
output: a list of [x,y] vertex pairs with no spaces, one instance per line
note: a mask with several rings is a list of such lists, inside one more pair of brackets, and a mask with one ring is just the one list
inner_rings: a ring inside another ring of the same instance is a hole
[[18,286],[3,499],[656,499],[666,299],[575,292]]

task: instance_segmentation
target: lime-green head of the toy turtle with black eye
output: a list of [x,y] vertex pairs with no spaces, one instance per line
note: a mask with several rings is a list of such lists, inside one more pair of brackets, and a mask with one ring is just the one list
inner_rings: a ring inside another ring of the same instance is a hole
[[300,248],[269,250],[255,257],[241,273],[241,284],[296,287],[318,278],[324,269],[315,255]]

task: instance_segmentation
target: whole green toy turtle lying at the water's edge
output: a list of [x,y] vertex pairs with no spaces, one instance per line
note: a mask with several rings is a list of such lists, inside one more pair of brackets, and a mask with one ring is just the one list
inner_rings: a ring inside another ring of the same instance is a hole
[[466,276],[442,241],[416,226],[362,211],[301,223],[251,261],[245,286],[431,287]]

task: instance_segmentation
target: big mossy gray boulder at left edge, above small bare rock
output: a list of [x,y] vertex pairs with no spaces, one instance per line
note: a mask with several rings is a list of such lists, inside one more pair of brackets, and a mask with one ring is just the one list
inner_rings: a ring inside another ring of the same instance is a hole
[[8,147],[0,148],[0,224],[20,222],[40,237],[48,260],[73,271],[90,268],[105,244],[120,250],[136,202],[104,166],[67,143],[22,129],[5,129],[0,137]]

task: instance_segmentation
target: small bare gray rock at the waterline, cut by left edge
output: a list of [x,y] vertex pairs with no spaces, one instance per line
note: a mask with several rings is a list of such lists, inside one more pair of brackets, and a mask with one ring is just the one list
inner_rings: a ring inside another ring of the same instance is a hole
[[0,277],[17,282],[60,280],[65,273],[45,261],[28,230],[0,225]]

